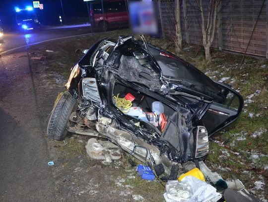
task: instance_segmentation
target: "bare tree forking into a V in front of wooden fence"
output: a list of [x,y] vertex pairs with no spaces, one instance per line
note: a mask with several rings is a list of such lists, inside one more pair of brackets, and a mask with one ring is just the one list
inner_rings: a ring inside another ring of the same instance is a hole
[[201,27],[203,34],[203,47],[205,51],[205,60],[211,61],[210,47],[214,40],[216,18],[217,18],[217,5],[219,0],[207,0],[208,15],[205,20],[202,0],[196,0],[201,12]]

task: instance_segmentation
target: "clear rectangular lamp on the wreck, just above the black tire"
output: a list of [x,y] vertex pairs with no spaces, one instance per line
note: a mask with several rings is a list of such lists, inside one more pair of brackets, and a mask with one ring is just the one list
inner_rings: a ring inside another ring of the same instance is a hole
[[97,82],[95,78],[82,79],[83,96],[94,102],[101,102]]

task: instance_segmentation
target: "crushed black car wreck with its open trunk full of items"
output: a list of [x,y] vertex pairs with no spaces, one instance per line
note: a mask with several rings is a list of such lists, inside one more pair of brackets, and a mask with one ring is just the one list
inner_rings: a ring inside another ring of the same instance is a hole
[[105,38],[83,51],[54,106],[48,135],[105,137],[165,169],[202,160],[208,138],[238,118],[243,98],[141,39]]

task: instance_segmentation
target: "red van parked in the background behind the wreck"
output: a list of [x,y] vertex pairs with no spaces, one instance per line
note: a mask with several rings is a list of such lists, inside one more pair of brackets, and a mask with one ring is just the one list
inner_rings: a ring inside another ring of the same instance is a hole
[[128,25],[129,16],[125,0],[104,0],[104,17],[101,1],[90,3],[90,15],[92,27],[98,27],[102,31],[109,28]]

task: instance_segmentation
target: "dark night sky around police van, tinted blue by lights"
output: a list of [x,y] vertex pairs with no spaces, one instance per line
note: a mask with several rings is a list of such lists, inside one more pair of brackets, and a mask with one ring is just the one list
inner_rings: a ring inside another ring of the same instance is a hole
[[[62,15],[61,0],[39,0],[44,9],[35,8],[36,14],[43,24],[58,24]],[[73,17],[88,17],[86,2],[83,0],[62,0],[66,20],[75,21]],[[33,5],[31,0],[0,0],[0,19],[3,25],[15,24],[15,7],[25,8]]]

